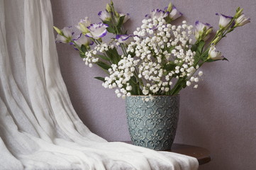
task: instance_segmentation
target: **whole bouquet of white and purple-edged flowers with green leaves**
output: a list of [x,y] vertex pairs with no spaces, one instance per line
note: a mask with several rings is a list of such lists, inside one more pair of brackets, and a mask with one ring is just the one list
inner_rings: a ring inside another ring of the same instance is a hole
[[[105,88],[115,89],[122,98],[175,95],[192,84],[197,88],[203,75],[199,68],[205,62],[227,60],[216,50],[218,42],[250,22],[243,8],[238,7],[232,17],[216,13],[220,19],[215,35],[210,24],[200,21],[196,21],[195,29],[187,21],[174,26],[172,21],[182,13],[170,3],[164,10],[152,10],[142,25],[128,34],[123,26],[130,16],[116,11],[113,1],[98,15],[102,23],[91,23],[87,17],[79,21],[77,37],[72,27],[54,27],[56,42],[73,45],[86,65],[96,64],[104,69],[106,77],[95,78],[103,81]],[[107,33],[114,36],[106,43],[103,38]]]

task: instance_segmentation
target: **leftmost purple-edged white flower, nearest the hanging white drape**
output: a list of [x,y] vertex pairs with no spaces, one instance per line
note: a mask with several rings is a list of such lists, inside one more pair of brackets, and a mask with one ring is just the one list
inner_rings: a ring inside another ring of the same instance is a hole
[[73,38],[74,32],[72,32],[72,27],[65,27],[62,30],[58,31],[60,34],[57,34],[56,42],[67,43],[70,42]]

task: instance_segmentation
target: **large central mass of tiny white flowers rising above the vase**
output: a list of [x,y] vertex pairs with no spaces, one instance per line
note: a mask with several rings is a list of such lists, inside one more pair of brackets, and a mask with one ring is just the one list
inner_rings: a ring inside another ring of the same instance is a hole
[[[164,18],[149,18],[143,20],[143,25],[134,31],[134,42],[128,45],[127,52],[135,55],[123,57],[116,65],[109,69],[110,77],[106,77],[104,87],[116,89],[118,97],[130,96],[132,87],[128,81],[134,72],[138,74],[140,88],[144,95],[166,94],[174,81],[187,77],[187,86],[197,83],[203,72],[194,75],[199,65],[194,67],[196,52],[189,50],[193,26],[186,21],[182,26],[167,24]],[[172,67],[168,71],[167,67]],[[194,88],[197,88],[197,84]]]

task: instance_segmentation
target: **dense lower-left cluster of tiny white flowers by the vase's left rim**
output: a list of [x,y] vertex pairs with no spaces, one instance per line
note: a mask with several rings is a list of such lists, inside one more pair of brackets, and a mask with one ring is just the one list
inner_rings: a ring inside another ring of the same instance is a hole
[[111,69],[108,69],[110,76],[105,77],[105,82],[102,86],[108,89],[118,87],[120,90],[116,89],[115,91],[118,97],[125,98],[126,96],[130,96],[129,91],[132,90],[132,86],[130,86],[128,81],[130,77],[133,77],[135,66],[138,62],[139,60],[134,60],[130,55],[128,57],[122,56],[118,64],[112,64]]

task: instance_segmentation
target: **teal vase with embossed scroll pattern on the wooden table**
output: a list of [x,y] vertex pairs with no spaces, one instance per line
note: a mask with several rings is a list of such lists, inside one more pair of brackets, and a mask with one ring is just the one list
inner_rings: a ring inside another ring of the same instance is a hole
[[179,95],[128,96],[126,115],[133,145],[169,150],[179,120]]

